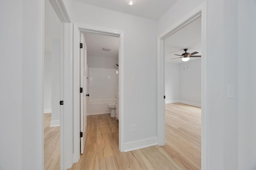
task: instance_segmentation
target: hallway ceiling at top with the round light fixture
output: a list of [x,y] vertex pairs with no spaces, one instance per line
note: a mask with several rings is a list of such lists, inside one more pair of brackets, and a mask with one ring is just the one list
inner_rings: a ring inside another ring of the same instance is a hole
[[75,1],[151,20],[158,20],[177,0],[137,0],[134,5],[126,4],[126,0]]

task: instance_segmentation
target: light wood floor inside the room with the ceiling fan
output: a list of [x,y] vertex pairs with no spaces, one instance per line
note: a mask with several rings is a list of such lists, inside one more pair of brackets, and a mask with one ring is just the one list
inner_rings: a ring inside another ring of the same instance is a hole
[[201,169],[201,108],[182,103],[166,104],[164,150],[182,169]]

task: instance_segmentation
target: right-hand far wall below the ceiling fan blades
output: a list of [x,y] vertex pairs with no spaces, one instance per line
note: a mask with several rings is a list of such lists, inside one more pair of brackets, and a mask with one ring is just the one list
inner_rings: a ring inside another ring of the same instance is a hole
[[180,102],[201,106],[201,59],[180,63]]

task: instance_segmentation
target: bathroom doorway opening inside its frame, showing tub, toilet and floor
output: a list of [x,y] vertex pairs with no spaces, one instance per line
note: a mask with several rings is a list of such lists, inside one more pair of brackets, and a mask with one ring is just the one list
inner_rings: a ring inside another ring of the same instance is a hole
[[86,102],[83,106],[87,138],[81,159],[88,158],[95,149],[100,161],[114,152],[113,149],[119,150],[119,37],[86,31],[81,31],[81,35],[87,52],[84,55]]

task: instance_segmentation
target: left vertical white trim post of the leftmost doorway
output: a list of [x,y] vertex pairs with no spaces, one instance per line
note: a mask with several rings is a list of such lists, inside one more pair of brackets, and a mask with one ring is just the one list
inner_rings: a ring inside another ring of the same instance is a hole
[[37,169],[44,170],[44,0],[38,0],[38,119],[37,119]]

